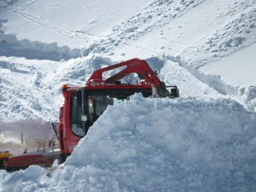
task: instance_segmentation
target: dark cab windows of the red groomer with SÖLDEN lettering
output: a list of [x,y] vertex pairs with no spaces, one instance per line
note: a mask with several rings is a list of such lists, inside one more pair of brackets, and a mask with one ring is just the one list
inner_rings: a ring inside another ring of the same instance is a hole
[[[143,97],[152,94],[148,89],[77,90],[70,93],[70,129],[76,136],[85,136],[89,127],[109,105],[129,100],[131,95],[138,92],[141,92]],[[87,116],[86,122],[82,122],[81,116]]]

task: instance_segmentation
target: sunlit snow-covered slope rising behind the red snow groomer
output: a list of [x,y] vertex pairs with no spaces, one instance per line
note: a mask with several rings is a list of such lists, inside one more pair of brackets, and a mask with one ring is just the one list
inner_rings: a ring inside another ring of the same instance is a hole
[[57,119],[62,83],[134,57],[153,61],[182,97],[253,111],[255,15],[256,0],[3,0],[0,119]]

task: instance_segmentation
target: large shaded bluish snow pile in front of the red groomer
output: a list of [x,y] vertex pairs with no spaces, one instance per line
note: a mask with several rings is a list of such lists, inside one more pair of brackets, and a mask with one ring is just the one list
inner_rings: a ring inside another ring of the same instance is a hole
[[31,180],[27,170],[12,175],[2,171],[1,187],[255,191],[255,116],[233,108],[241,106],[223,99],[154,100],[137,94],[120,106],[109,106],[52,179]]

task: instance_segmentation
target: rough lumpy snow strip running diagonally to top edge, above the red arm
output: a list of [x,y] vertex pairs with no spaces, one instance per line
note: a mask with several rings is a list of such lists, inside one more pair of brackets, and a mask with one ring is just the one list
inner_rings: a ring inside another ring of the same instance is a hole
[[[84,47],[86,51],[85,56],[89,52],[104,53],[110,52],[116,46],[127,45],[132,41],[140,38],[155,29],[159,29],[170,23],[173,19],[186,14],[191,8],[195,8],[205,0],[196,1],[180,1],[179,3],[162,0],[152,1],[150,5],[143,8],[143,10],[124,20],[120,24],[113,26],[111,31],[100,37],[100,40],[94,41],[89,47]],[[93,47],[93,49],[92,49]]]

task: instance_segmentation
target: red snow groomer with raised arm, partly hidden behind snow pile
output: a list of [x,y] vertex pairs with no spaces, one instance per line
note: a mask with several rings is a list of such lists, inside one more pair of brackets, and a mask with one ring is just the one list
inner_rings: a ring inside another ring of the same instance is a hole
[[[4,162],[5,168],[17,170],[31,164],[51,166],[54,159],[63,163],[108,105],[129,100],[134,93],[154,98],[179,97],[177,86],[166,86],[157,77],[158,73],[159,70],[153,71],[147,61],[135,58],[95,70],[84,86],[63,84],[65,100],[60,108],[60,124],[58,129],[52,126],[59,141],[59,149],[44,148],[40,154],[34,152],[10,157]],[[102,76],[105,74],[107,77]],[[134,77],[137,78],[135,82]]]

